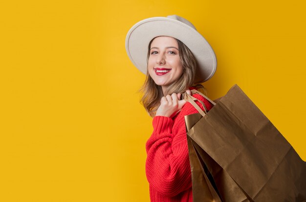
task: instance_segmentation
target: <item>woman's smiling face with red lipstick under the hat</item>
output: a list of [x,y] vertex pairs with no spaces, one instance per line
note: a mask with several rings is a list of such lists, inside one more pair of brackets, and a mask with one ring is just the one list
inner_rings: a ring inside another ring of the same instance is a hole
[[163,91],[183,74],[178,45],[172,37],[157,37],[150,47],[148,72]]

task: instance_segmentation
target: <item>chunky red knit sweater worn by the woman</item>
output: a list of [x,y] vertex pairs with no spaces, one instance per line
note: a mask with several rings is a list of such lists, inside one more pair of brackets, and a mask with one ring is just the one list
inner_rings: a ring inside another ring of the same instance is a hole
[[[212,108],[212,104],[199,94],[193,96],[203,101],[207,110]],[[184,116],[195,113],[197,109],[187,102],[173,119],[153,118],[153,133],[146,143],[146,175],[151,202],[193,201]]]

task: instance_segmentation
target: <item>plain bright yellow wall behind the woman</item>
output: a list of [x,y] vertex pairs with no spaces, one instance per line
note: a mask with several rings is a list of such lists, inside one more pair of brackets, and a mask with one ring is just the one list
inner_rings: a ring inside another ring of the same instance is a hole
[[216,52],[212,99],[237,83],[306,161],[304,0],[1,0],[0,201],[149,202],[125,52],[139,20],[179,15]]

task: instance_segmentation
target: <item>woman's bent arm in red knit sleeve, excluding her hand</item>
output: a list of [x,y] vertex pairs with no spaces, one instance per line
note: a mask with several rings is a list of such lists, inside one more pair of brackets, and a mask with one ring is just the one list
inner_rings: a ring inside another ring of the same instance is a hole
[[154,117],[154,130],[146,144],[147,179],[159,193],[168,197],[191,187],[185,125],[178,128],[177,134],[172,134],[173,123],[168,117]]

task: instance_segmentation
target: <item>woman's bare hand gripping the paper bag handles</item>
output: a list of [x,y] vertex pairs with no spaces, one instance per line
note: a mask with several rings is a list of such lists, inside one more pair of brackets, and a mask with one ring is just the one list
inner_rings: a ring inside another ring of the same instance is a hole
[[[186,90],[188,95],[191,95],[190,90]],[[164,116],[164,117],[174,117],[176,113],[181,110],[181,108],[186,103],[185,100],[180,100],[181,94],[173,93],[171,96],[166,95],[161,98],[160,105],[156,111],[155,116]]]

